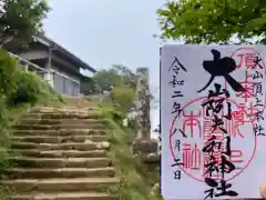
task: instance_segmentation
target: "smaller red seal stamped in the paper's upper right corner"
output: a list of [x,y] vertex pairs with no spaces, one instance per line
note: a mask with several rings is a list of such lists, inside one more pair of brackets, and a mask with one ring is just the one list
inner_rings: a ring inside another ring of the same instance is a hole
[[[236,62],[233,76],[245,89],[234,97],[237,104],[246,111],[252,121],[256,120],[256,113],[264,113],[266,108],[266,94],[263,82],[266,78],[266,68],[263,57],[254,48],[239,48],[231,54]],[[225,88],[229,89],[225,81]]]

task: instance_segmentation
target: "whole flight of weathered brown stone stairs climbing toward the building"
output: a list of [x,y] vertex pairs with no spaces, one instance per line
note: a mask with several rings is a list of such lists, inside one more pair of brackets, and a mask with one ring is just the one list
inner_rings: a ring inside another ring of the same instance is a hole
[[13,200],[114,200],[100,187],[119,182],[106,158],[108,128],[99,112],[43,108],[14,126],[4,186]]

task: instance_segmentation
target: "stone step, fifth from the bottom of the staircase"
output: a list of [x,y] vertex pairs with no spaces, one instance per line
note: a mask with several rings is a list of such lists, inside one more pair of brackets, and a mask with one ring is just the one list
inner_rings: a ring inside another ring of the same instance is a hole
[[105,150],[92,150],[92,151],[78,151],[78,150],[64,150],[64,151],[40,151],[40,150],[21,150],[12,149],[10,153],[14,156],[34,157],[34,158],[104,158],[106,157]]

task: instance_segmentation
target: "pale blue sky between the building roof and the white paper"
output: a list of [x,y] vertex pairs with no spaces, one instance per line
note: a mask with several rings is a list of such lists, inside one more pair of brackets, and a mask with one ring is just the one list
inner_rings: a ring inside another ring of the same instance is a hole
[[[152,93],[158,100],[161,41],[156,9],[165,0],[50,0],[52,10],[44,20],[45,34],[100,70],[124,64],[150,70]],[[156,103],[157,104],[157,103]],[[160,123],[152,104],[152,129]],[[153,134],[152,137],[155,137]]]

